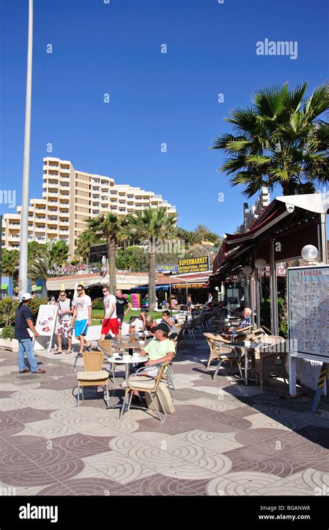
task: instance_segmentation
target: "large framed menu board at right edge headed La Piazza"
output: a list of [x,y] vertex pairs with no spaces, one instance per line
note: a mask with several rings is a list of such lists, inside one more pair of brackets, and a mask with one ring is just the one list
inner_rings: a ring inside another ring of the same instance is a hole
[[329,265],[287,272],[290,349],[329,358]]

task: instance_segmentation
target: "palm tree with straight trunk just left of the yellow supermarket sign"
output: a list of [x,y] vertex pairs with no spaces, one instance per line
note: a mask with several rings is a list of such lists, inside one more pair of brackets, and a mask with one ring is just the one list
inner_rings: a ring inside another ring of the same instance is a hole
[[141,243],[148,242],[149,252],[149,309],[155,308],[155,254],[160,240],[174,237],[176,214],[167,214],[165,208],[136,211],[126,217],[130,231]]

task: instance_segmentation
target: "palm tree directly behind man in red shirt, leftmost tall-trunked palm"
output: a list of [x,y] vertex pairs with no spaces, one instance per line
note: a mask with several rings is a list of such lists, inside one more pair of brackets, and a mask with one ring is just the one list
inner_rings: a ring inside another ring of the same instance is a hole
[[115,259],[117,257],[117,243],[126,235],[127,221],[114,213],[101,213],[97,217],[86,220],[88,228],[98,238],[106,240],[108,246],[108,274],[110,276],[110,292],[115,295],[117,289],[117,275]]

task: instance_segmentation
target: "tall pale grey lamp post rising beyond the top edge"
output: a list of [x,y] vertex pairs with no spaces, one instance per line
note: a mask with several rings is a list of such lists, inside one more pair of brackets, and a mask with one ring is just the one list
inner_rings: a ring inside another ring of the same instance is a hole
[[30,184],[31,144],[31,99],[32,99],[32,53],[33,53],[33,0],[28,0],[28,56],[26,72],[25,133],[23,159],[22,213],[19,245],[19,300],[27,291],[28,260],[28,188]]

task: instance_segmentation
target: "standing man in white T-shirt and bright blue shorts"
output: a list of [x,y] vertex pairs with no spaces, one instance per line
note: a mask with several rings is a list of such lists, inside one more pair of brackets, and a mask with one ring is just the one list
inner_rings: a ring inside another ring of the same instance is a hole
[[92,299],[85,295],[85,288],[81,283],[79,283],[78,287],[76,288],[76,292],[78,293],[78,297],[74,299],[73,302],[73,320],[76,320],[75,324],[75,334],[76,338],[80,341],[80,351],[79,353],[83,353],[83,348],[86,346],[87,350],[90,350],[92,343],[87,342],[85,340],[85,337],[87,335],[88,326],[92,325]]

